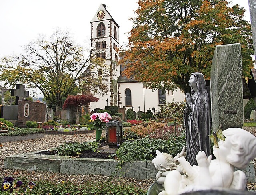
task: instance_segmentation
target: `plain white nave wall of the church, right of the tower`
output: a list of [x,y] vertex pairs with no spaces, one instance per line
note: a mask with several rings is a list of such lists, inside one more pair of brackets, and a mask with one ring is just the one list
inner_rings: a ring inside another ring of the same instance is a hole
[[[132,105],[126,106],[125,105],[125,90],[129,88],[132,93]],[[143,89],[142,83],[120,83],[119,85],[119,107],[126,107],[126,110],[129,108],[133,108],[134,111],[138,112],[140,106],[140,111],[146,112],[149,108],[152,110],[154,107],[156,112],[160,110],[158,106],[158,90],[152,91],[151,89]],[[181,102],[184,101],[184,93],[177,89],[173,92],[173,95],[168,95],[166,92],[166,101],[167,102]],[[121,103],[121,104],[120,104]]]

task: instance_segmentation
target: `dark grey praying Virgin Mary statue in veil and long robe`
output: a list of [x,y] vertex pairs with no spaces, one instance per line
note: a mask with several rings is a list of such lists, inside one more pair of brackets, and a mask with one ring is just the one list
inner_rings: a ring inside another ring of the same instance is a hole
[[202,73],[192,73],[188,83],[191,87],[191,95],[185,94],[184,110],[187,158],[191,165],[198,165],[196,155],[199,151],[204,151],[206,156],[210,155],[209,98]]

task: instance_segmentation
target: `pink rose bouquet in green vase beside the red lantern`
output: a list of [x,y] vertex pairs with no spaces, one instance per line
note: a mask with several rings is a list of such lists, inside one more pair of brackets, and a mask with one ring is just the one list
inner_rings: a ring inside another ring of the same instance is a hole
[[101,129],[104,129],[104,127],[106,126],[106,123],[109,122],[110,119],[112,119],[112,117],[110,116],[110,114],[108,114],[108,112],[104,112],[104,113],[95,112],[90,116],[90,118],[94,128],[101,128]]

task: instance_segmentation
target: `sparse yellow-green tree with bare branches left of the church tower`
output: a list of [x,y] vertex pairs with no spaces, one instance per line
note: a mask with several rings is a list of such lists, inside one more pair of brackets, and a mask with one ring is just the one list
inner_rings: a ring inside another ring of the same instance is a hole
[[[56,110],[62,105],[62,98],[78,89],[95,94],[108,91],[104,60],[92,53],[86,58],[68,32],[57,30],[49,39],[39,37],[28,43],[23,55],[3,57],[0,65],[1,81],[10,86],[24,83],[29,88],[37,87]],[[95,67],[101,67],[100,75]]]

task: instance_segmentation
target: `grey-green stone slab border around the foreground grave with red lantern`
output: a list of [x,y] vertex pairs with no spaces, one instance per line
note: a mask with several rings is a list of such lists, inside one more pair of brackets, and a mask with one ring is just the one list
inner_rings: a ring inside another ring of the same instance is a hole
[[[53,149],[49,149],[53,150]],[[70,156],[41,155],[41,150],[13,156],[4,159],[4,168],[26,171],[48,171],[67,175],[106,175],[130,177],[134,179],[155,179],[157,170],[151,161],[123,163],[114,159],[74,158]],[[254,163],[250,162],[245,172],[247,181],[255,183]]]

